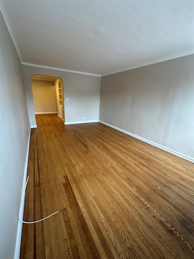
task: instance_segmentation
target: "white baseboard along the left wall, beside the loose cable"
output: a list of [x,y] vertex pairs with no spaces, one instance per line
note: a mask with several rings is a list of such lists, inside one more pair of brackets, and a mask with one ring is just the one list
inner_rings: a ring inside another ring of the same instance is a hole
[[[30,147],[30,133],[31,133],[31,128],[29,130],[29,136],[28,136],[28,145],[27,145],[27,152],[26,152],[26,160],[25,160],[25,168],[24,168],[24,179],[23,179],[23,188],[22,188],[21,201],[22,201],[22,197],[23,197],[23,193],[24,193],[25,184],[26,184],[26,176],[27,176],[27,169],[28,169],[28,155],[29,155],[29,147]],[[23,214],[24,214],[24,200],[23,200],[23,203],[22,203],[21,214],[20,214],[20,218],[22,220],[23,220]],[[16,237],[14,259],[19,259],[19,257],[20,257],[20,247],[21,247],[21,238],[22,238],[22,224],[23,223],[20,220],[18,220],[18,231],[17,231],[17,237]]]

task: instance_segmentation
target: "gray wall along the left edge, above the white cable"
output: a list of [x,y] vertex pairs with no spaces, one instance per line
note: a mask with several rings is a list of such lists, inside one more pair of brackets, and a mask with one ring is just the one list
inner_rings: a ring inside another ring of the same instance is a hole
[[22,65],[0,12],[0,258],[14,258],[30,127]]

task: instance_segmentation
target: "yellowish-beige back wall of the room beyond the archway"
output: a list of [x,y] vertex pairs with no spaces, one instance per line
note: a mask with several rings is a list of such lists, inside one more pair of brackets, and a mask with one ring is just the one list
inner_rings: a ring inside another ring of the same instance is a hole
[[35,113],[57,112],[54,82],[31,79],[31,84]]

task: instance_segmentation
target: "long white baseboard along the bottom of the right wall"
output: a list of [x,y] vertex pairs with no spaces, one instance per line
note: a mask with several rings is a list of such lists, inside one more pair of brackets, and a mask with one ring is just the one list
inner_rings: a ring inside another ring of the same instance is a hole
[[164,150],[164,151],[166,151],[166,152],[169,152],[170,154],[176,155],[176,156],[178,156],[178,157],[180,157],[180,158],[186,159],[187,161],[190,161],[190,162],[194,163],[194,158],[191,157],[191,156],[184,155],[184,154],[179,153],[179,152],[177,152],[177,151],[175,151],[175,150],[172,150],[172,149],[170,149],[170,148],[167,148],[167,147],[164,147],[164,146],[162,146],[162,145],[160,145],[160,144],[157,144],[157,143],[155,143],[155,142],[152,142],[152,141],[150,141],[150,140],[148,140],[148,139],[146,139],[146,138],[139,137],[139,136],[137,136],[137,135],[135,135],[135,134],[132,134],[132,133],[130,133],[130,132],[128,132],[128,131],[125,131],[125,130],[122,130],[122,129],[120,129],[120,128],[117,128],[117,127],[115,127],[115,126],[113,126],[113,125],[111,125],[111,124],[108,124],[108,123],[104,122],[104,121],[99,121],[99,122],[102,123],[102,124],[105,124],[106,126],[109,126],[109,127],[113,128],[113,129],[115,129],[115,130],[121,131],[121,132],[123,132],[123,133],[125,133],[125,134],[127,134],[127,135],[129,135],[129,136],[131,136],[131,137],[133,137],[133,138],[137,138],[137,139],[139,139],[139,140],[141,140],[141,141],[143,141],[143,142],[146,142],[146,143],[148,143],[148,144],[150,144],[150,145],[152,145],[152,146],[154,146],[154,147],[156,147],[156,148],[160,148],[160,149],[162,149],[162,150]]

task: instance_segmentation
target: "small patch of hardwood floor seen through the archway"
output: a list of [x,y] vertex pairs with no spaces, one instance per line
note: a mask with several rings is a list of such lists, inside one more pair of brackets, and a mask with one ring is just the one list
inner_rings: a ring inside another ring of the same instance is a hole
[[64,121],[60,119],[56,113],[35,114],[37,127],[64,125]]

